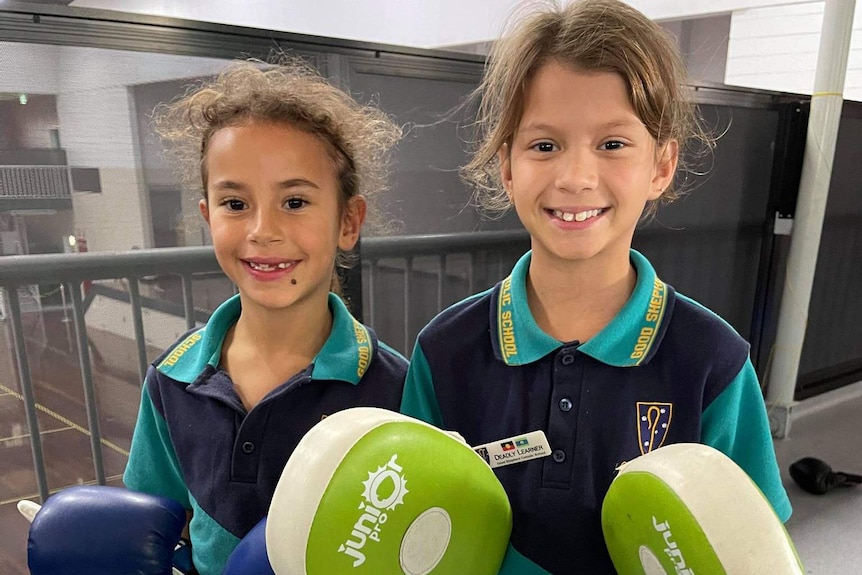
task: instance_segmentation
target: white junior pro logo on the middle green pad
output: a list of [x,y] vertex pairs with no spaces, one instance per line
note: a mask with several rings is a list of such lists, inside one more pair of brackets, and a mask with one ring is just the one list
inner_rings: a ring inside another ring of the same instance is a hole
[[362,549],[368,540],[380,543],[383,526],[389,519],[387,511],[404,503],[408,493],[407,479],[403,469],[396,463],[398,454],[394,454],[383,467],[377,471],[369,471],[368,479],[362,482],[362,501],[359,502],[359,518],[353,524],[350,537],[339,545],[339,553],[353,558],[353,567],[365,563],[365,553]]

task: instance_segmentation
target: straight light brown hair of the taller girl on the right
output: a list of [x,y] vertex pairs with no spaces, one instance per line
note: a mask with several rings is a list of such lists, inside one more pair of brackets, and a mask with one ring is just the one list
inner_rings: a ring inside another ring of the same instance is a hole
[[[491,215],[502,215],[511,201],[500,181],[497,153],[511,144],[523,112],[527,86],[544,64],[619,74],[629,100],[658,149],[679,143],[678,171],[688,171],[683,151],[711,151],[714,138],[703,128],[690,93],[685,63],[673,38],[658,24],[618,0],[532,2],[515,12],[491,50],[485,77],[473,98],[478,100],[472,158],[461,170],[473,185],[474,200]],[[699,149],[698,149],[699,148]],[[661,198],[671,202],[685,191],[672,182]]]

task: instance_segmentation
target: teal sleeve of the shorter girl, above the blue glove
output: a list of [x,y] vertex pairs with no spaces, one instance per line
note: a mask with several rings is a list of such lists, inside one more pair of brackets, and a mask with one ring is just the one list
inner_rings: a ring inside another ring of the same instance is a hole
[[135,491],[170,497],[191,509],[188,487],[180,471],[167,423],[153,405],[146,384],[123,483]]

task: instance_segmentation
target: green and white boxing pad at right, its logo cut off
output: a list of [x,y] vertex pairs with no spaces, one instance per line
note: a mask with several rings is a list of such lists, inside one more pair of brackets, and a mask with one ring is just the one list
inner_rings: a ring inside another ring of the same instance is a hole
[[624,464],[605,496],[602,529],[620,575],[805,573],[751,478],[697,443]]

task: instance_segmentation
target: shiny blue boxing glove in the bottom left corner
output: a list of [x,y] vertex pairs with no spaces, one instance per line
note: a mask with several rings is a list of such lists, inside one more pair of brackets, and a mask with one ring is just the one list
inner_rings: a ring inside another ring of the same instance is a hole
[[186,510],[173,499],[105,486],[70,487],[35,513],[31,575],[171,575]]

